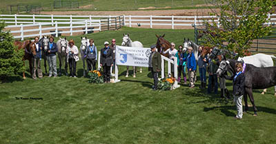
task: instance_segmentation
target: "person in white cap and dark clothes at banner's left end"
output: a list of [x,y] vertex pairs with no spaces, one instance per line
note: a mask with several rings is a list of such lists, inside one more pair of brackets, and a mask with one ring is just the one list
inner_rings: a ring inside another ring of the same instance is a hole
[[103,81],[110,83],[110,67],[113,66],[113,50],[109,48],[108,41],[103,43],[104,48],[101,49],[100,65],[103,68]]

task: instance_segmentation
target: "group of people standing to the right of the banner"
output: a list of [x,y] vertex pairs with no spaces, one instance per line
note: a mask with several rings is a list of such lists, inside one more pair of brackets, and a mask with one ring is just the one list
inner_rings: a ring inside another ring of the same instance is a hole
[[[161,52],[163,54],[168,53],[170,59],[177,59],[177,81],[180,82],[181,75],[184,77],[184,84],[186,84],[186,69],[188,70],[188,77],[189,77],[189,87],[195,88],[195,76],[196,76],[196,70],[197,70],[197,63],[199,66],[199,76],[201,85],[200,88],[204,89],[206,88],[206,72],[209,74],[208,78],[208,94],[210,94],[212,91],[217,94],[217,69],[219,68],[219,61],[217,59],[210,59],[210,56],[202,54],[202,48],[199,47],[199,59],[196,63],[195,60],[195,54],[193,53],[193,48],[188,47],[188,49],[183,48],[182,45],[178,46],[179,50],[175,49],[175,43],[171,43],[171,48]],[[150,46],[152,53],[149,57],[149,68],[152,72],[152,76],[154,79],[154,85],[152,87],[153,90],[157,90],[157,83],[158,83],[158,72],[161,71],[161,54],[157,52],[156,45]],[[188,52],[188,54],[187,54]],[[212,52],[212,49],[210,50]],[[172,67],[173,68],[173,67]],[[237,115],[235,116],[235,119],[242,119],[242,97],[244,94],[244,81],[245,76],[242,72],[243,65],[242,63],[236,63],[235,65],[236,73],[233,74],[233,76],[224,76],[224,78],[233,80],[233,96],[234,101],[237,107]],[[172,69],[173,70],[173,69]],[[173,72],[172,72],[173,74]],[[225,85],[224,85],[225,87]],[[225,88],[221,88],[221,91],[223,92]],[[221,92],[221,97],[222,97]]]

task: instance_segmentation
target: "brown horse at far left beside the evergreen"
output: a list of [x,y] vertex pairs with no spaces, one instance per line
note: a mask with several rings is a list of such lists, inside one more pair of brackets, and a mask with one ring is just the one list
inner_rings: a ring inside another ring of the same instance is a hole
[[[14,41],[14,45],[17,46],[17,50],[24,49],[24,56],[22,61],[29,60],[30,74],[32,75],[32,57],[37,54],[35,51],[36,46],[33,41]],[[25,62],[23,63],[25,66]],[[26,79],[25,71],[23,72],[23,79]]]

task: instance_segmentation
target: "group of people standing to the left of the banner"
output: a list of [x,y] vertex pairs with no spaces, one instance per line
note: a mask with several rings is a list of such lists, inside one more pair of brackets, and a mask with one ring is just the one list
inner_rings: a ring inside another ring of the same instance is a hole
[[[46,58],[49,65],[49,75],[48,77],[57,77],[57,43],[54,42],[54,38],[49,38],[49,43],[47,43]],[[100,65],[103,68],[103,78],[104,82],[110,83],[110,67],[115,63],[115,48],[116,40],[112,39],[112,44],[109,45],[108,41],[105,41],[104,48],[101,49],[101,61]],[[34,44],[36,46],[36,55],[32,57],[32,79],[39,79],[43,77],[41,70],[41,53],[44,50],[42,45],[39,43],[39,37],[34,38]],[[68,42],[66,48],[67,62],[69,64],[70,77],[77,77],[77,61],[79,61],[79,49],[75,45],[74,40]],[[89,40],[89,45],[86,47],[85,55],[86,61],[88,63],[88,70],[96,70],[97,63],[97,47],[94,45],[93,39]]]

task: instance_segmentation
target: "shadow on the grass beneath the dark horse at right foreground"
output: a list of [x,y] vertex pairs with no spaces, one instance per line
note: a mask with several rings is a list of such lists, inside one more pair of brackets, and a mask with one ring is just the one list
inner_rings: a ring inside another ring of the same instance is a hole
[[[215,106],[215,107],[204,107],[204,112],[209,112],[213,110],[220,110],[221,113],[225,114],[226,116],[235,116],[234,112],[230,112],[230,110],[236,110],[235,105],[223,105],[223,106]],[[248,114],[254,114],[253,107],[249,107]],[[258,112],[266,112],[269,114],[276,114],[276,110],[270,109],[268,107],[258,107]]]

